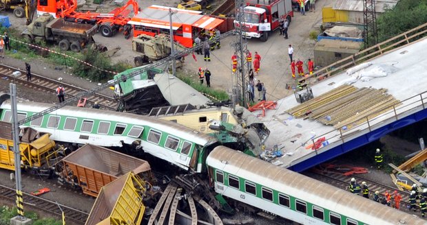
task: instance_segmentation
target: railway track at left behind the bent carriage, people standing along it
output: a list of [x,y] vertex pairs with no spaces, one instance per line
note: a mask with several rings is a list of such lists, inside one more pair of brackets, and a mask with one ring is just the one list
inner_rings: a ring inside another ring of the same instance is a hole
[[[18,75],[15,78],[14,75],[12,75],[14,71],[20,71],[21,75]],[[59,84],[62,84],[62,86],[65,88],[65,93],[66,93],[65,98],[72,97],[76,95],[76,93],[80,93],[82,91],[87,91],[84,88],[79,88],[77,86],[66,84],[58,80],[45,78],[42,75],[38,75],[35,73],[31,73],[31,75],[32,75],[31,81],[28,82],[27,73],[25,71],[22,71],[21,69],[17,69],[14,67],[9,67],[4,64],[0,64],[1,78],[8,78],[10,80],[13,80],[17,84],[21,84],[28,88],[33,88],[39,91],[45,91],[49,93],[56,93],[56,88],[59,86]],[[101,106],[101,108],[107,109],[107,110],[116,110],[118,105],[114,97],[110,97],[100,93],[95,93],[94,95],[87,96],[87,102],[90,104],[94,104],[95,102],[98,102],[98,105]]]

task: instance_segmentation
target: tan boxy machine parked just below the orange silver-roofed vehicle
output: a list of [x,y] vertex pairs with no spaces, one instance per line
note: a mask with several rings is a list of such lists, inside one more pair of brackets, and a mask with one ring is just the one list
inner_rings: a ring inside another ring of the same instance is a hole
[[[185,46],[175,43],[176,51],[185,51]],[[167,34],[149,36],[140,34],[132,38],[132,51],[142,54],[134,58],[135,66],[140,67],[150,62],[161,60],[171,55],[171,39]]]

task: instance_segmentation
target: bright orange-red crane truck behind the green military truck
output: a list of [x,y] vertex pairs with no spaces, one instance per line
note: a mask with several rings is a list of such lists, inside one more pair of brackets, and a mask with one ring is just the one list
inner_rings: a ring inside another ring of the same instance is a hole
[[125,38],[129,38],[132,30],[132,25],[128,25],[130,21],[127,10],[129,5],[132,5],[134,14],[138,14],[138,3],[136,0],[129,0],[121,8],[116,8],[110,13],[93,13],[93,12],[76,12],[76,0],[37,0],[37,14],[49,13],[56,17],[61,17],[65,21],[74,21],[76,23],[91,23],[98,24],[99,31],[105,37],[111,37],[116,32],[123,31]]

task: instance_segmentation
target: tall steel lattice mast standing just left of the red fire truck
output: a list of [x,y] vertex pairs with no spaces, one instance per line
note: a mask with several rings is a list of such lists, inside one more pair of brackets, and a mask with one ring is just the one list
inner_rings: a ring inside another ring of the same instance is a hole
[[236,29],[236,40],[233,44],[234,51],[237,54],[237,69],[234,75],[236,76],[234,79],[236,80],[236,86],[233,86],[233,95],[236,98],[233,98],[233,105],[240,104],[240,106],[247,106],[247,82],[246,82],[246,71],[249,71],[247,64],[244,63],[247,52],[247,41],[243,40],[243,32],[244,32],[244,4],[243,0],[235,0],[236,5],[236,21],[238,21],[238,26]]

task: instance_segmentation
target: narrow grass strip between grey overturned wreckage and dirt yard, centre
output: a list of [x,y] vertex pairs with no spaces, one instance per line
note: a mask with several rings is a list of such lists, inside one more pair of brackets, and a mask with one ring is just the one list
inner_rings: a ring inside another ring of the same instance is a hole
[[176,77],[178,77],[180,80],[182,80],[192,88],[196,89],[198,92],[208,95],[207,97],[209,97],[209,99],[212,99],[213,101],[225,101],[229,99],[229,95],[227,92],[208,88],[206,85],[200,84],[198,79],[196,80],[194,78],[190,78],[182,71],[177,71]]

